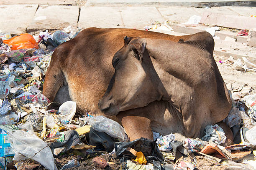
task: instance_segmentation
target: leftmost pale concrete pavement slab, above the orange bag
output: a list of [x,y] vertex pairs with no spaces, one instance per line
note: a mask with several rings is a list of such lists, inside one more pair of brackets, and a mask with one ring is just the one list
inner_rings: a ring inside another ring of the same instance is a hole
[[[0,30],[11,34],[26,33],[28,24],[31,23],[38,5],[0,5]],[[26,16],[26,17],[20,17]]]

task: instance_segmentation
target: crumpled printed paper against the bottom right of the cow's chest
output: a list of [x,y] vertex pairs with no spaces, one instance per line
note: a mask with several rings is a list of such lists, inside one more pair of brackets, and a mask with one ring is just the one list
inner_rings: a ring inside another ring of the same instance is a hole
[[225,143],[227,137],[222,128],[219,125],[207,125],[205,127],[205,136],[202,137],[204,141],[212,141],[218,145]]

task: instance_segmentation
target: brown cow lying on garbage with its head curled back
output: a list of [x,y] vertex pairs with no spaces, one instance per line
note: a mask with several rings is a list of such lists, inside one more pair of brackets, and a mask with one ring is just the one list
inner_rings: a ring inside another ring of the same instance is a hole
[[152,130],[202,137],[205,126],[225,119],[231,108],[213,49],[207,32],[87,28],[56,48],[43,94],[75,101],[84,114],[103,112],[123,125],[130,140],[153,139]]

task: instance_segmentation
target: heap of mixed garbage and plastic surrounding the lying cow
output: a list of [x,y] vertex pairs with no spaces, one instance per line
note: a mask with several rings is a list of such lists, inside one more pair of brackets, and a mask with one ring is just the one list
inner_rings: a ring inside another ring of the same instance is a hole
[[[156,27],[169,29],[166,23]],[[206,126],[201,139],[154,132],[154,140],[129,141],[117,122],[90,112],[76,114],[73,101],[49,110],[51,103],[42,89],[51,55],[78,32],[68,27],[34,36],[0,34],[0,168],[65,170],[93,158],[90,165],[100,169],[194,170],[203,169],[202,160],[226,170],[256,169],[256,94],[249,89],[236,97],[246,85],[230,92],[233,105],[223,120],[234,136],[229,146],[224,143],[230,134],[217,124]],[[248,70],[248,64],[244,66]],[[69,155],[76,157],[65,164],[57,161]]]

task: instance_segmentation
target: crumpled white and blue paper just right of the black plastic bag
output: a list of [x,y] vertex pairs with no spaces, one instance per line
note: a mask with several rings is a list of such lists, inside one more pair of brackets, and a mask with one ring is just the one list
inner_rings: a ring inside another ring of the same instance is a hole
[[174,142],[174,134],[169,134],[169,135],[166,135],[166,136],[160,136],[159,138],[157,138],[156,140],[156,144],[158,146],[158,149],[159,150],[162,150],[162,151],[170,151],[172,150],[172,145],[170,145],[170,142]]

